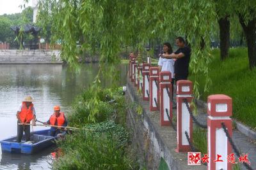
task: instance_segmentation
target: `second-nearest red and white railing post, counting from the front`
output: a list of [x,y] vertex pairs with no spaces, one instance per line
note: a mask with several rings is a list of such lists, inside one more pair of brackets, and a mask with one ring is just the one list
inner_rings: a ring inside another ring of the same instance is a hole
[[189,146],[188,139],[186,138],[186,132],[188,133],[189,140],[193,141],[193,120],[189,115],[189,110],[184,103],[184,99],[188,101],[189,107],[193,99],[193,85],[189,80],[177,81],[177,149],[176,152],[189,152],[191,148]]

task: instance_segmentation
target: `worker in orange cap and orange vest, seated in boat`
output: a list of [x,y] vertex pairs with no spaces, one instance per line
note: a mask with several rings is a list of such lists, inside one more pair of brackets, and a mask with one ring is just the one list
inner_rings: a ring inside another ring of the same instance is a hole
[[[54,106],[54,113],[51,115],[47,122],[44,122],[44,124],[66,127],[68,122],[64,113],[60,111],[60,106]],[[57,136],[58,134],[64,135],[65,131],[67,131],[65,128],[51,127],[51,136]]]

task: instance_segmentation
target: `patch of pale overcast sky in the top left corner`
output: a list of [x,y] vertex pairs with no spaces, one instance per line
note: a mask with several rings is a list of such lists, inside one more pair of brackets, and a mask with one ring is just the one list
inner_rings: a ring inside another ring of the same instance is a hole
[[[24,4],[24,0],[0,0],[0,15],[4,13],[20,13],[20,4]],[[29,3],[26,6],[32,6],[32,1],[29,0]]]

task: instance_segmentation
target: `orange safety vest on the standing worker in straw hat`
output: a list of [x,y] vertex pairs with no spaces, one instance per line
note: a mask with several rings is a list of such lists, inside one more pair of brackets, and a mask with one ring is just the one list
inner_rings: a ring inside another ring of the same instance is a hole
[[26,103],[22,102],[21,111],[19,113],[20,121],[22,123],[29,123],[33,119],[33,106],[33,103],[31,103],[29,108],[27,108]]

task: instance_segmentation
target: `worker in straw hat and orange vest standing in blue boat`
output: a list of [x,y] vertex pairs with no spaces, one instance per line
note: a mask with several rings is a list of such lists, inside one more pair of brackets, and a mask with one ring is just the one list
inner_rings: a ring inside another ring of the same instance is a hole
[[18,119],[18,125],[17,125],[17,142],[20,143],[23,132],[25,132],[25,140],[30,141],[30,121],[32,121],[32,124],[35,125],[35,119],[36,119],[36,111],[34,108],[34,104],[32,103],[34,100],[31,96],[27,96],[24,98],[22,103],[19,105],[19,108],[17,110],[16,117]]

